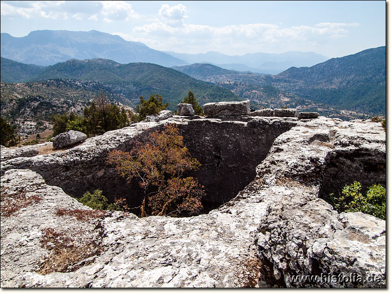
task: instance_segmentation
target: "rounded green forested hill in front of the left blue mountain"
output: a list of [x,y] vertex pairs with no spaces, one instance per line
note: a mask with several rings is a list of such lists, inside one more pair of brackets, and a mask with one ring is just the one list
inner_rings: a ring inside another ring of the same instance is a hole
[[[12,66],[13,63],[2,64],[2,72],[10,71],[6,64]],[[44,67],[28,78],[23,74],[22,79],[15,82],[53,79],[97,81],[109,85],[111,91],[120,94],[122,99],[127,99],[130,105],[138,104],[139,96],[149,98],[153,94],[159,94],[163,96],[164,103],[171,104],[171,110],[176,110],[176,105],[187,96],[189,90],[193,91],[201,105],[241,100],[228,89],[196,80],[172,68],[152,63],[120,64],[106,59],[68,60]]]

